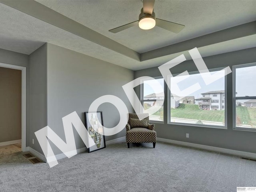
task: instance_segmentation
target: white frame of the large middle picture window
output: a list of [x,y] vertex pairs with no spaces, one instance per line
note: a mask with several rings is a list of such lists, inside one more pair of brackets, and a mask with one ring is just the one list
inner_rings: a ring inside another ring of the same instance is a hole
[[[221,68],[214,68],[214,69],[209,69],[209,72],[217,72],[219,70],[224,69],[224,67]],[[188,72],[188,74],[193,75],[193,74],[199,74],[199,71],[193,71],[193,72]],[[174,74],[173,76],[176,76],[178,74]],[[170,78],[168,76],[168,84],[170,84]],[[182,125],[182,126],[194,126],[194,127],[203,127],[203,128],[216,128],[216,129],[227,129],[228,128],[228,121],[227,121],[227,102],[226,102],[226,98],[227,98],[227,76],[224,76],[224,88],[225,88],[225,93],[224,93],[224,119],[225,119],[225,124],[224,126],[216,126],[216,125],[201,125],[201,124],[190,124],[190,123],[177,123],[177,122],[171,122],[171,108],[170,108],[170,89],[168,88],[168,92],[167,92],[167,124],[170,125]],[[222,110],[222,109],[220,109]]]

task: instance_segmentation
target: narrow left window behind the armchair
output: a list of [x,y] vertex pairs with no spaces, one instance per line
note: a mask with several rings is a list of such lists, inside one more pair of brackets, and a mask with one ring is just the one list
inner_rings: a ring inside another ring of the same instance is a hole
[[[155,93],[150,85],[154,84],[153,80],[143,80],[142,84],[142,106],[145,110],[154,106],[162,106],[164,103],[164,78],[155,78],[162,87],[159,88],[158,92]],[[160,102],[156,103],[156,99]],[[163,121],[164,120],[164,108],[163,106],[154,114],[149,116],[150,121]]]

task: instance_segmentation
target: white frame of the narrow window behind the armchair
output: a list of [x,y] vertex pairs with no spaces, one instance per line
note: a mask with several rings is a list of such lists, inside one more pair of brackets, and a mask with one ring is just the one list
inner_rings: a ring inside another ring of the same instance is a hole
[[[164,78],[162,76],[153,77],[153,78],[156,79],[156,80],[157,79],[163,79],[163,81],[164,81]],[[151,102],[151,101],[154,102],[154,101],[156,101],[156,99],[145,99],[144,100],[144,81],[146,81],[146,80],[150,80],[150,79],[149,78],[142,79],[141,84],[140,84],[140,103],[142,104],[143,107],[144,107],[143,102]],[[164,82],[164,84],[165,84],[165,82]],[[163,90],[164,90],[164,87],[163,87]],[[164,95],[165,95],[165,92],[164,92]],[[163,107],[163,120],[162,121],[155,121],[155,120],[150,120],[149,119],[149,122],[164,124],[164,99],[159,99],[159,100],[163,101],[163,105],[162,105],[162,107]],[[140,112],[142,112],[142,111],[140,111]]]

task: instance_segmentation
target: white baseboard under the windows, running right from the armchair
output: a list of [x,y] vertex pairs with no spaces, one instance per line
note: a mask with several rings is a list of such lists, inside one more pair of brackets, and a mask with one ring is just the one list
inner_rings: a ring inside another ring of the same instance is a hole
[[170,144],[194,147],[194,148],[199,148],[199,149],[204,149],[204,150],[209,150],[209,151],[221,152],[221,153],[256,159],[256,153],[237,151],[237,150],[232,150],[232,149],[225,149],[225,148],[219,148],[219,147],[213,147],[213,146],[207,146],[207,145],[201,145],[201,144],[195,144],[195,143],[188,143],[188,142],[176,141],[176,140],[170,140],[170,139],[164,139],[164,138],[156,138],[156,140],[170,143]]

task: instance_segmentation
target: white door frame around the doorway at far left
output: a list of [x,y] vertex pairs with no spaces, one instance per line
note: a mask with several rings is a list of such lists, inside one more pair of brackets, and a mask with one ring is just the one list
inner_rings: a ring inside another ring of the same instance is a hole
[[26,67],[1,62],[0,67],[21,70],[21,150],[26,151]]

